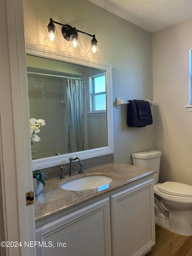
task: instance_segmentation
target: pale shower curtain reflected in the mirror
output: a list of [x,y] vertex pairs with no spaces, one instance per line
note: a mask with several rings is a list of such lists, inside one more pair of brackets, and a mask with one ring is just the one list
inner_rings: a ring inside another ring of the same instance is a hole
[[67,153],[84,150],[83,138],[83,80],[64,79],[66,105],[66,145]]

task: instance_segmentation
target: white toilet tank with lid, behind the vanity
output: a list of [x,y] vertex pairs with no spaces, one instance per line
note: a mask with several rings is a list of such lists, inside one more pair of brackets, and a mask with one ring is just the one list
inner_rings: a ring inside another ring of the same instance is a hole
[[154,184],[159,180],[161,155],[161,151],[158,150],[148,150],[132,154],[133,165],[157,171],[157,173],[154,173]]

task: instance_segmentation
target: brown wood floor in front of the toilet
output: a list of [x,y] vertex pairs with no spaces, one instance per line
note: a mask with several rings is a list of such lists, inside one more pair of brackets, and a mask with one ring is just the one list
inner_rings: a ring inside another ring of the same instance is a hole
[[155,245],[146,256],[192,256],[192,236],[183,236],[155,224]]

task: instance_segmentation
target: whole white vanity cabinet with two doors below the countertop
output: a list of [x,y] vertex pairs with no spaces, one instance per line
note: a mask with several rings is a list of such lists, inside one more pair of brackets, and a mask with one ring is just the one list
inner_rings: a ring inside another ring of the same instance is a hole
[[40,225],[36,241],[44,242],[37,256],[145,255],[155,244],[153,179],[137,180]]

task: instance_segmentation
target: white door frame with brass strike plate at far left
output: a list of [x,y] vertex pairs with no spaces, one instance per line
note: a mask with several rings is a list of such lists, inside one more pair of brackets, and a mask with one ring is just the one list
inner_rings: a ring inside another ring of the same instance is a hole
[[22,0],[1,0],[0,47],[0,239],[22,247],[0,246],[6,256],[36,255],[34,205],[25,194],[33,190],[29,139],[29,107]]

